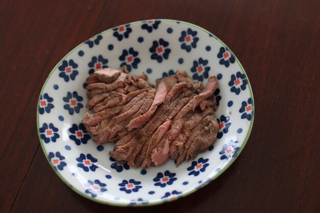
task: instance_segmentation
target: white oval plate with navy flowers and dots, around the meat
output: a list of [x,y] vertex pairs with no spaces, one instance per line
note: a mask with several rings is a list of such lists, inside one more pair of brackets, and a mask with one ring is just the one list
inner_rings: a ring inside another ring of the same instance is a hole
[[[97,69],[122,65],[131,74],[145,72],[151,83],[176,70],[204,84],[216,75],[219,133],[214,145],[178,168],[169,159],[160,167],[129,169],[110,158],[114,144],[98,146],[81,124],[88,111],[85,79]],[[77,46],[53,68],[37,108],[40,143],[56,174],[78,194],[119,206],[160,204],[208,184],[242,151],[253,120],[252,89],[232,51],[207,30],[167,19],[127,23]]]

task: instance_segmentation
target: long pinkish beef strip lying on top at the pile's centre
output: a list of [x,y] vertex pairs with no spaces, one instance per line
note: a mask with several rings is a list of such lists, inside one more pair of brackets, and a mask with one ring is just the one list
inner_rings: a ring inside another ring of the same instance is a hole
[[150,119],[150,117],[153,115],[158,105],[165,102],[167,94],[175,84],[176,84],[176,80],[174,78],[165,77],[157,87],[155,97],[153,99],[152,105],[149,108],[149,110],[145,114],[139,117],[136,117],[135,119],[130,121],[130,123],[127,126],[128,130],[130,131],[146,123]]

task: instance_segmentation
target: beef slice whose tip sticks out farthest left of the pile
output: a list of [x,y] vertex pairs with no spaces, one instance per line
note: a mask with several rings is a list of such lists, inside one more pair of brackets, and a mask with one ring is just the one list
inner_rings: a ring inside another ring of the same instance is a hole
[[122,110],[122,106],[115,106],[95,114],[85,113],[82,123],[85,126],[94,127],[101,121],[117,115],[121,110]]

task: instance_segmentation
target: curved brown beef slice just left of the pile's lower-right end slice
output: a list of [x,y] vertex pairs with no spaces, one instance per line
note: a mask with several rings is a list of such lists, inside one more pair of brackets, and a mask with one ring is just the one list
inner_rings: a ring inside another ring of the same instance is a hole
[[199,110],[196,110],[195,112],[196,113],[192,115],[190,119],[184,123],[178,136],[172,141],[170,145],[170,156],[174,160],[177,160],[178,156],[184,150],[184,144],[187,138],[189,137],[190,131],[196,125],[198,125],[204,117],[214,114],[214,111],[212,108],[207,108],[203,112],[200,112]]

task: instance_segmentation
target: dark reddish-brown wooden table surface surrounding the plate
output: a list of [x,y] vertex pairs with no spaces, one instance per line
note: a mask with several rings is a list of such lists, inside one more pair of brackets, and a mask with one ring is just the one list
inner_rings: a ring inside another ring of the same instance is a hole
[[[320,2],[0,2],[0,212],[320,212]],[[255,97],[255,124],[219,178],[177,201],[123,208],[68,188],[42,152],[41,87],[56,63],[89,37],[150,18],[185,20],[237,55]]]

